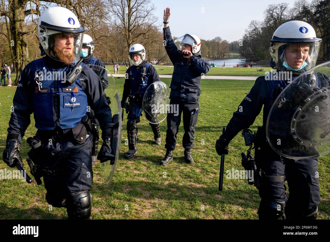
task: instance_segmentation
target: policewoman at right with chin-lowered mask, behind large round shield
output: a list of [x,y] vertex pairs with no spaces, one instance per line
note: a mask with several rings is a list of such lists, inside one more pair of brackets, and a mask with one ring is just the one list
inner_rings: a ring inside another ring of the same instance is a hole
[[[256,79],[238,111],[233,114],[226,131],[216,141],[217,153],[228,154],[229,142],[240,130],[253,124],[264,105],[263,126],[258,127],[254,140],[255,160],[262,174],[259,219],[314,219],[318,215],[320,187],[318,178],[310,175],[317,172],[318,159],[293,160],[275,152],[267,142],[266,123],[272,104],[281,90],[292,79],[315,66],[320,41],[313,27],[306,22],[289,21],[282,24],[275,31],[270,46],[271,67],[276,71]],[[292,78],[290,75],[281,75],[280,72],[284,71],[292,72]],[[287,78],[272,78],[271,75]],[[285,193],[285,180],[289,186],[289,199]]]

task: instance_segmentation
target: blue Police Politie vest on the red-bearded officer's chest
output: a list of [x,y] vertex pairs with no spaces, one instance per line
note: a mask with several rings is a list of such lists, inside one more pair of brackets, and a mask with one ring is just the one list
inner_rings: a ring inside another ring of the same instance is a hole
[[[31,73],[37,71],[39,76],[43,76],[40,91],[36,83],[39,77],[34,80],[32,102],[35,126],[41,130],[54,129],[55,126],[62,129],[73,128],[82,121],[87,111],[87,96],[82,90],[79,76],[68,86],[63,80],[71,68],[52,69],[46,66],[44,58],[31,65]],[[81,65],[83,67],[83,63]]]

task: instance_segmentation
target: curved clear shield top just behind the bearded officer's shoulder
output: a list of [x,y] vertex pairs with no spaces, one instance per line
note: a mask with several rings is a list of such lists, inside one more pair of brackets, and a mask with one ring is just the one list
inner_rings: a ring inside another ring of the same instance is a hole
[[97,65],[87,65],[91,68],[101,79],[102,87],[106,87],[104,92],[110,97],[111,101],[116,93],[116,81],[110,71],[106,68]]

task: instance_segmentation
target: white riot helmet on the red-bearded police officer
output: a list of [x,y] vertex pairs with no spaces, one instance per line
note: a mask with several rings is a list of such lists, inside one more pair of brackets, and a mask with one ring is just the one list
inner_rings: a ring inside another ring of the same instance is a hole
[[84,28],[80,26],[79,20],[74,13],[62,7],[51,7],[46,9],[38,21],[38,36],[40,44],[45,53],[51,58],[62,61],[54,50],[56,36],[72,36],[73,46],[70,62],[78,62],[82,49],[82,35]]

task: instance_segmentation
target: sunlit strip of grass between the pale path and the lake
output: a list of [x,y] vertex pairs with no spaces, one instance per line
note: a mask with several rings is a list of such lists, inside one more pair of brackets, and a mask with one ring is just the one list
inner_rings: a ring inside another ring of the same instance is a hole
[[[154,66],[157,69],[159,75],[172,75],[173,67],[166,66]],[[106,68],[114,74],[114,68],[106,66]],[[257,71],[257,69],[263,68],[264,71]],[[214,76],[264,76],[265,71],[271,71],[271,67],[212,67],[206,75]],[[126,67],[122,66],[119,69],[119,74],[125,74]]]

